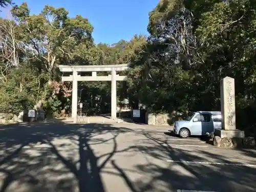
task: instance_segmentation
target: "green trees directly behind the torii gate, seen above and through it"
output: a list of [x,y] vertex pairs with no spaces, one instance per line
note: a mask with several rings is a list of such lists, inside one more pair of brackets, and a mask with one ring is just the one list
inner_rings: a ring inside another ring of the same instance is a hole
[[[98,44],[89,54],[82,49],[79,50],[80,55],[84,57],[94,57],[92,65],[115,65],[122,63],[130,63],[132,57],[136,56],[135,50],[145,44],[146,38],[143,35],[134,35],[130,41],[120,40],[114,45]],[[80,61],[81,65],[84,61]],[[97,75],[108,75],[109,72],[97,73]],[[120,72],[120,75],[125,73]],[[117,83],[118,103],[123,99],[133,99],[134,95],[127,93],[125,82]],[[83,103],[84,112],[90,114],[110,113],[111,111],[111,83],[110,82],[82,82],[78,86],[79,101]],[[130,98],[131,97],[131,98]],[[133,99],[134,100],[134,99]]]

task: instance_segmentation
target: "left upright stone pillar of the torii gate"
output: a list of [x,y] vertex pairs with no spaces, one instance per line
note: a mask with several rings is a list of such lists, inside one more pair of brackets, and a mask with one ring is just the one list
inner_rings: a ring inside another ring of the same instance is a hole
[[76,122],[77,118],[77,71],[73,71],[72,81],[72,118]]

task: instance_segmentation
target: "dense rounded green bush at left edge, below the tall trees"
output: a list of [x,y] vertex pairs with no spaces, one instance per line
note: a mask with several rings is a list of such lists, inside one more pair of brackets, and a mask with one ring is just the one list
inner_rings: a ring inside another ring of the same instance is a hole
[[33,109],[42,96],[40,82],[44,81],[44,74],[26,66],[13,69],[8,74],[6,82],[0,81],[0,110],[2,113],[18,115],[26,108]]

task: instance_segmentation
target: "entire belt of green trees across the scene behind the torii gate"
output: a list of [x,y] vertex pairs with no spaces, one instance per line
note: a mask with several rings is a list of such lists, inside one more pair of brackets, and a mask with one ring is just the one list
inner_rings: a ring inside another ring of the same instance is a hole
[[[130,63],[127,82],[118,83],[119,101],[156,113],[220,110],[220,80],[230,76],[240,126],[255,124],[253,0],[160,0],[149,14],[149,36],[113,45],[95,45],[89,20],[69,17],[65,8],[46,5],[31,15],[23,3],[11,12],[13,20],[0,20],[1,111],[16,114],[38,100],[56,114],[69,109],[72,87],[60,82],[58,64]],[[110,89],[109,82],[82,82],[78,99],[90,113],[109,112]]]

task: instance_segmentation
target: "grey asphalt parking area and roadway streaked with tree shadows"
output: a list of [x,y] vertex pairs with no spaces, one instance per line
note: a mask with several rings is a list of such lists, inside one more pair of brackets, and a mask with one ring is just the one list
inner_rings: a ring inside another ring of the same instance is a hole
[[168,127],[0,125],[0,192],[255,191],[256,152],[225,150]]

